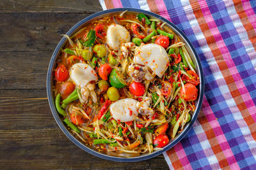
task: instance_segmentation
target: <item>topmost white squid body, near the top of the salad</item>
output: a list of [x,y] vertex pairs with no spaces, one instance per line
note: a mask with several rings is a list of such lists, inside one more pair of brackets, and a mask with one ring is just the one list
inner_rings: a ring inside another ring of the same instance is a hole
[[122,25],[112,24],[108,27],[107,31],[107,43],[113,50],[118,50],[120,42],[130,42],[131,36],[129,31]]

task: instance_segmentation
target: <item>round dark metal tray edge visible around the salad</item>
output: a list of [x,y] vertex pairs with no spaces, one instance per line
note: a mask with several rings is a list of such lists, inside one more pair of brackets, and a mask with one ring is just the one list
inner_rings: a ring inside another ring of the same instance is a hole
[[175,32],[175,34],[177,34],[177,36],[179,36],[181,41],[186,43],[186,48],[187,48],[189,54],[191,55],[193,62],[195,63],[196,71],[198,73],[198,76],[200,77],[200,85],[199,85],[198,99],[196,100],[196,110],[192,115],[191,121],[188,124],[186,124],[186,127],[184,128],[184,130],[182,132],[180,132],[180,134],[178,134],[175,137],[175,139],[170,140],[168,145],[164,146],[163,150],[158,150],[158,151],[152,152],[150,154],[147,153],[147,154],[140,155],[139,157],[131,157],[131,158],[113,157],[110,155],[106,155],[104,153],[97,152],[96,150],[89,148],[88,146],[85,146],[81,141],[79,141],[74,136],[72,136],[72,134],[70,134],[70,132],[67,130],[67,127],[61,121],[60,115],[58,115],[58,112],[56,111],[56,108],[54,106],[54,96],[53,96],[52,88],[51,88],[53,85],[54,67],[56,66],[56,60],[58,59],[58,56],[60,55],[61,47],[67,43],[67,38],[64,38],[64,37],[61,39],[60,43],[58,43],[58,45],[56,46],[56,49],[54,50],[54,53],[52,54],[52,58],[51,58],[51,61],[49,64],[48,73],[47,73],[47,97],[48,97],[48,101],[49,101],[50,108],[52,111],[52,115],[55,118],[57,124],[60,126],[60,129],[65,133],[65,135],[73,143],[75,143],[77,146],[79,146],[79,148],[83,149],[84,151],[86,151],[88,153],[91,153],[92,155],[95,155],[96,157],[100,157],[102,159],[113,160],[113,161],[118,161],[118,162],[137,162],[140,160],[147,160],[152,157],[156,157],[157,155],[160,155],[161,153],[165,152],[166,150],[169,150],[170,148],[172,148],[182,138],[184,138],[184,136],[186,136],[189,129],[191,129],[192,125],[194,124],[194,122],[198,116],[198,113],[200,111],[200,108],[202,106],[202,101],[203,101],[203,96],[204,96],[204,75],[203,75],[202,65],[200,63],[198,55],[196,54],[195,48],[193,47],[193,45],[191,44],[189,39],[186,37],[186,35],[182,31],[180,31],[180,29],[176,25],[174,25],[172,22],[170,22],[170,21],[166,20],[165,18],[161,17],[160,15],[157,15],[156,13],[152,13],[150,11],[138,10],[138,9],[134,9],[134,8],[115,8],[115,9],[111,9],[111,10],[100,11],[100,12],[90,15],[89,17],[86,17],[83,20],[81,20],[80,22],[78,22],[76,25],[74,25],[74,27],[72,27],[67,32],[67,35],[72,36],[72,34],[74,34],[76,31],[81,29],[81,27],[86,25],[86,23],[92,22],[92,20],[95,20],[95,19],[98,19],[101,17],[105,17],[105,16],[111,15],[113,13],[120,13],[125,10],[127,10],[127,13],[145,13],[150,18],[158,18],[162,22],[166,22],[166,25],[168,25],[168,27],[170,27],[170,29],[172,29],[172,31]]

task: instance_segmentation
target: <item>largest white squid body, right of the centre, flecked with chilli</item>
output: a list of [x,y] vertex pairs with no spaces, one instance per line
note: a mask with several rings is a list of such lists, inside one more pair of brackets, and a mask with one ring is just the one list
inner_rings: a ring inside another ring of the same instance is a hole
[[169,57],[163,46],[150,43],[136,49],[133,62],[150,67],[161,78],[169,65]]

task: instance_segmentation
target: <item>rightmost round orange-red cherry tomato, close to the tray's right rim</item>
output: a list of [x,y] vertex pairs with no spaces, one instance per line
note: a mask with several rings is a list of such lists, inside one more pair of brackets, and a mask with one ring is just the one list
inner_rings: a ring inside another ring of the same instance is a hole
[[197,98],[197,89],[196,86],[193,85],[192,83],[186,83],[184,85],[185,92],[183,88],[180,90],[180,96],[185,100],[185,101],[195,101]]

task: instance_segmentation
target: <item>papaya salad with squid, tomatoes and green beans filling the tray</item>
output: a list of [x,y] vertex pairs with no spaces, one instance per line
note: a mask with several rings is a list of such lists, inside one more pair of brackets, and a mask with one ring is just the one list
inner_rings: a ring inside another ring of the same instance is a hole
[[84,145],[136,157],[163,150],[191,120],[200,80],[185,43],[165,24],[124,11],[63,35],[55,106]]

